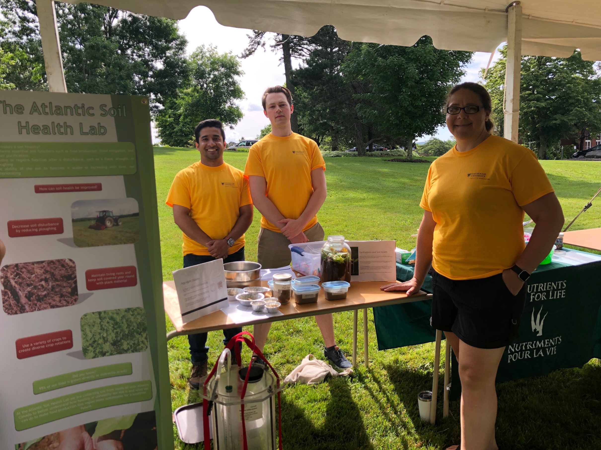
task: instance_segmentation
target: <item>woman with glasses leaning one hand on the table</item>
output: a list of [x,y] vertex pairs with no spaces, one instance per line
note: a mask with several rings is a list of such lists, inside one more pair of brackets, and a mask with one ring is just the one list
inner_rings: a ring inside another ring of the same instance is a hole
[[[517,337],[524,282],[549,254],[564,218],[534,153],[490,134],[486,89],[455,86],[446,112],[457,143],[428,172],[415,275],[382,289],[418,292],[432,265],[431,323],[450,341],[462,383],[461,439],[449,449],[497,450],[496,371]],[[536,223],[527,246],[524,212]]]

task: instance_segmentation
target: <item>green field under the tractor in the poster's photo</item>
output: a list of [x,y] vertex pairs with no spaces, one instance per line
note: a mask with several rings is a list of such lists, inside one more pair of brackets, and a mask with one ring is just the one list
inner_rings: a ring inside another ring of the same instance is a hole
[[104,230],[94,230],[90,225],[95,221],[76,221],[73,223],[73,242],[78,247],[97,247],[99,245],[135,244],[140,238],[140,218],[123,217],[121,225]]

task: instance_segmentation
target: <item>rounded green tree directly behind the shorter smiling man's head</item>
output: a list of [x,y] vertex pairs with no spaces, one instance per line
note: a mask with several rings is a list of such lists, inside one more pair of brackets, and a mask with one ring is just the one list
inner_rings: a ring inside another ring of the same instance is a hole
[[190,81],[156,113],[163,144],[194,146],[194,127],[204,119],[219,119],[230,126],[242,119],[236,100],[242,100],[244,92],[236,77],[243,72],[236,56],[200,46],[190,56],[189,71]]

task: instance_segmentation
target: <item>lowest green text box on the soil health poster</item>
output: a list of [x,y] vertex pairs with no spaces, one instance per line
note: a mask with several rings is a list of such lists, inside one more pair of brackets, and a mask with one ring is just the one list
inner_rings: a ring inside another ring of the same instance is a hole
[[149,380],[88,389],[17,408],[14,410],[14,428],[27,430],[94,409],[151,399],[152,383]]

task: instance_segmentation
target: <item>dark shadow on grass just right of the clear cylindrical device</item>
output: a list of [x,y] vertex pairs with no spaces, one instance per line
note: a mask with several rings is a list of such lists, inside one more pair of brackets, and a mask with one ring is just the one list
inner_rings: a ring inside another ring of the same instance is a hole
[[282,395],[284,447],[295,450],[373,450],[361,411],[352,398],[348,380],[342,377],[330,378],[326,383],[329,385],[330,400],[322,428],[315,427],[301,408]]

